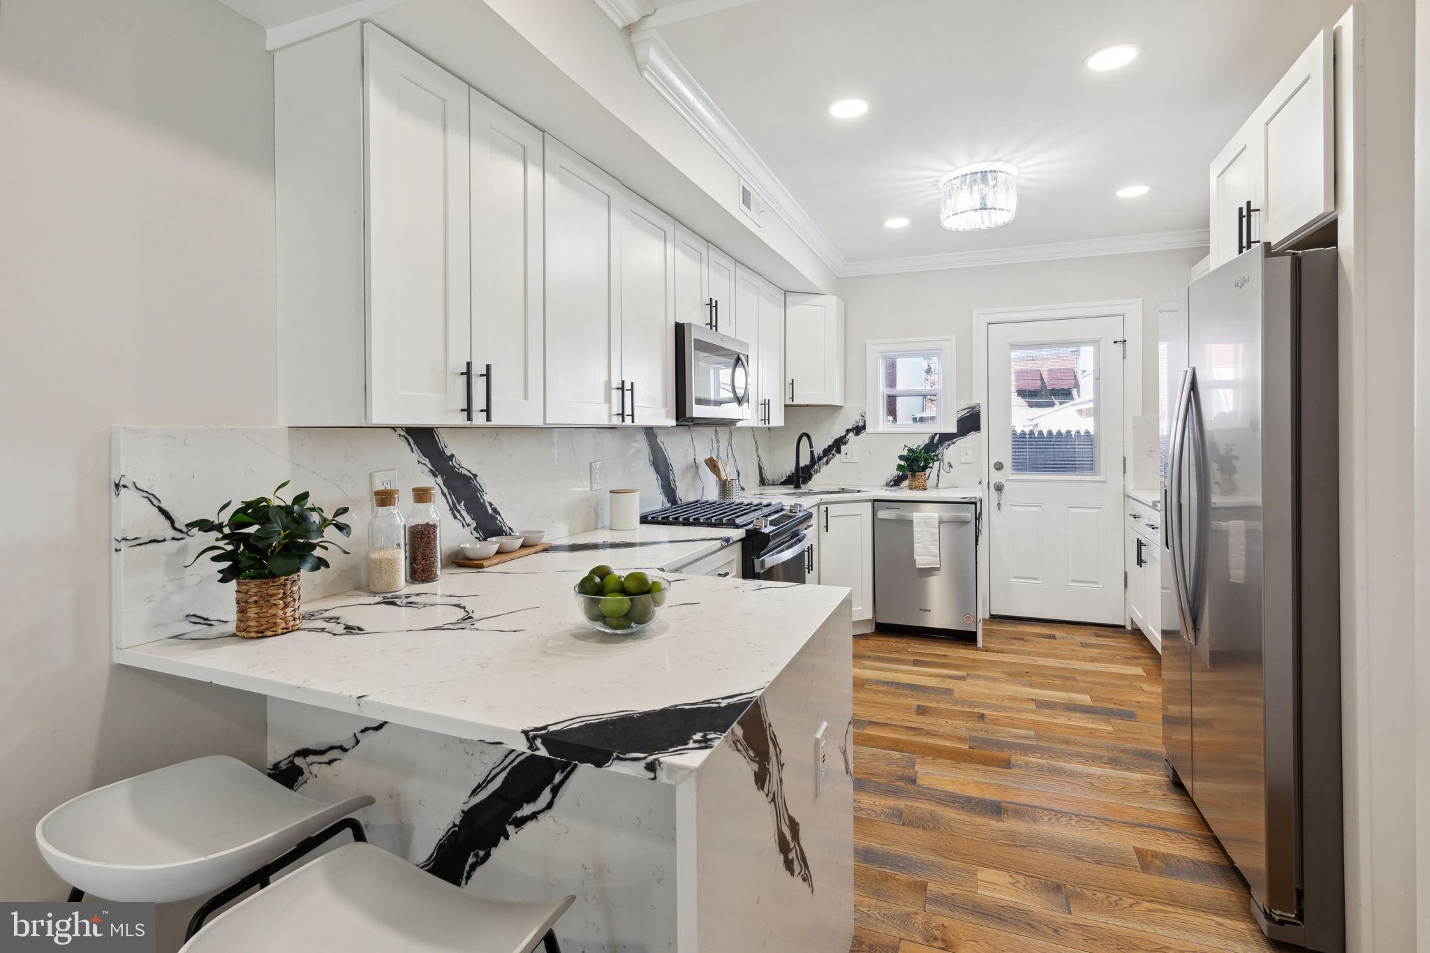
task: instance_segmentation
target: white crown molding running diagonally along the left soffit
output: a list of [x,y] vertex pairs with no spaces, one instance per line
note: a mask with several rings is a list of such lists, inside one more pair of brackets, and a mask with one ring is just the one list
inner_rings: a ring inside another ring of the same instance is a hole
[[[609,1],[613,0],[596,0],[602,6]],[[649,29],[633,30],[631,46],[645,81],[759,193],[765,206],[779,216],[831,271],[841,274],[845,267],[844,256],[825,237],[814,219],[799,207],[785,184],[779,181],[779,177],[765,164],[749,141],[739,134],[739,130],[721,111],[715,100],[695,81],[695,77],[661,39],[661,34]]]

